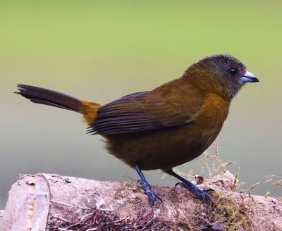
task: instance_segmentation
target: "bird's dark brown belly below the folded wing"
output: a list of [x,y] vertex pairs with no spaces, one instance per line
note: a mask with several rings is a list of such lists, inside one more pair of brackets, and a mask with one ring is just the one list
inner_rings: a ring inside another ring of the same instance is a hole
[[106,149],[129,166],[168,170],[200,156],[221,127],[192,123],[137,134],[108,135]]

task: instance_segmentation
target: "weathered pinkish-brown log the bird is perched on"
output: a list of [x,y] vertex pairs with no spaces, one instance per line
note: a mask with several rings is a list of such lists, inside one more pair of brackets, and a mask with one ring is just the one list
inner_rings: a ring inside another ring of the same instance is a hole
[[282,230],[282,201],[234,192],[228,171],[202,182],[214,204],[180,187],[153,189],[150,205],[137,182],[102,182],[54,174],[21,175],[11,187],[0,230]]

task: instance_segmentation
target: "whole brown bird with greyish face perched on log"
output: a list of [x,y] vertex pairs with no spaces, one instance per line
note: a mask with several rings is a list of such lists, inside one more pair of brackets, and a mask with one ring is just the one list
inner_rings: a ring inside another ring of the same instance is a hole
[[228,54],[215,54],[190,65],[176,80],[152,91],[137,92],[106,105],[82,101],[61,92],[18,85],[30,101],[81,113],[88,133],[102,135],[110,154],[135,168],[149,201],[152,191],[141,170],[161,169],[201,199],[212,196],[172,168],[191,161],[216,139],[231,100],[246,82],[259,82],[245,65]]

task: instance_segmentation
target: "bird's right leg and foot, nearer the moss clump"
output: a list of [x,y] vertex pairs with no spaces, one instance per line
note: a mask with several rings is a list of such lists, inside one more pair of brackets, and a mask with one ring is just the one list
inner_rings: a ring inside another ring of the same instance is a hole
[[206,189],[206,190],[199,189],[197,187],[197,185],[192,184],[190,181],[181,177],[177,173],[174,173],[172,169],[167,170],[166,173],[168,173],[169,175],[172,175],[173,177],[176,177],[178,180],[182,181],[181,183],[178,183],[176,185],[181,185],[185,189],[188,189],[190,192],[192,192],[192,194],[195,194],[195,196],[200,197],[200,199],[202,199],[203,201],[204,201],[204,199],[208,199],[209,201],[212,201],[212,203],[214,202],[213,199],[212,199],[212,196],[207,194],[207,192],[212,192],[212,191],[214,191],[214,189]]

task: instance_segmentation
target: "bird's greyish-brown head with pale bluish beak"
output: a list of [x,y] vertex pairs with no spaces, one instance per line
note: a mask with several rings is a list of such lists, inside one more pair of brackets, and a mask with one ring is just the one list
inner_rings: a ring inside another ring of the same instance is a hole
[[259,82],[242,62],[228,54],[207,56],[190,65],[184,76],[196,81],[203,90],[221,94],[230,100],[245,83]]

